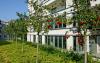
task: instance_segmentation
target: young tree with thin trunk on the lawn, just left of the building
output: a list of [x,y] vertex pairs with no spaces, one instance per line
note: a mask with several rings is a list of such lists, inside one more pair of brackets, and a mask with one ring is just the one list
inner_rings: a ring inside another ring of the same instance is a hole
[[[25,14],[21,14],[17,12],[17,16],[19,17],[19,19],[17,19],[15,21],[15,26],[16,26],[16,33],[19,37],[21,37],[22,41],[24,42],[25,39],[25,35],[27,34],[27,26],[28,26],[28,22],[27,22],[27,16]],[[24,50],[23,48],[23,42],[22,42],[22,52]]]

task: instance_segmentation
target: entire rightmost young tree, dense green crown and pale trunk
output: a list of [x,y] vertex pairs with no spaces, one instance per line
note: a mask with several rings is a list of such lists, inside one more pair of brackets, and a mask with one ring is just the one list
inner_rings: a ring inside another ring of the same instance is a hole
[[[73,0],[75,15],[73,20],[78,23],[78,32],[82,33],[83,36],[83,46],[84,46],[84,63],[87,63],[87,34],[88,30],[92,30],[94,24],[100,22],[97,20],[96,11],[91,8],[90,0]],[[93,22],[95,21],[95,22]]]

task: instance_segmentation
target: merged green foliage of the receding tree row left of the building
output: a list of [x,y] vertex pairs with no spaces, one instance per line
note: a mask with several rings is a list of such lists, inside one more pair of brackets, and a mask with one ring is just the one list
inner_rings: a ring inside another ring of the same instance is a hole
[[22,37],[23,35],[25,36],[28,32],[28,22],[26,19],[27,16],[20,13],[17,13],[17,15],[19,16],[19,18],[9,21],[3,30],[7,35],[9,35],[9,38],[11,38],[12,40],[14,40],[15,37]]

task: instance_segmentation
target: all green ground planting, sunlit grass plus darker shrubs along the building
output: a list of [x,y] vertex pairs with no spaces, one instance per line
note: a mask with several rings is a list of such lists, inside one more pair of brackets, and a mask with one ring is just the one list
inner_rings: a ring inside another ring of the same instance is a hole
[[[22,51],[23,44],[23,51]],[[0,63],[36,63],[37,56],[36,44],[22,41],[0,41]],[[84,55],[72,52],[61,52],[51,46],[40,45],[38,53],[39,63],[83,63]],[[88,56],[88,63],[94,62]]]

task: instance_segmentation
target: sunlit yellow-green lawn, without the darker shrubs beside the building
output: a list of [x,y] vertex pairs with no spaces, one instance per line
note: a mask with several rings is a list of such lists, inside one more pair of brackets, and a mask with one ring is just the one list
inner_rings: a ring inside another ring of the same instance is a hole
[[[0,63],[36,63],[36,46],[22,42],[0,41]],[[57,53],[47,53],[39,48],[40,63],[63,63]]]

